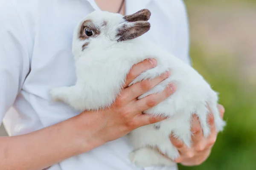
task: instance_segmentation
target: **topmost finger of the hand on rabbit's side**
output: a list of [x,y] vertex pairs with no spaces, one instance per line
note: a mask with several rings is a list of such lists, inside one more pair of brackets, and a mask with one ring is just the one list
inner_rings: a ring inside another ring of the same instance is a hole
[[154,68],[156,65],[157,65],[157,60],[155,59],[145,59],[144,61],[134,65],[126,77],[125,87],[127,87],[143,71],[146,71],[150,68]]

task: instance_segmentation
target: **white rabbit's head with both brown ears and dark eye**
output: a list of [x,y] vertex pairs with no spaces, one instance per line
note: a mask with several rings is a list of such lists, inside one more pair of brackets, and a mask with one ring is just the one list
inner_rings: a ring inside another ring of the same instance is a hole
[[90,49],[108,48],[143,35],[150,29],[150,23],[147,22],[150,15],[148,9],[126,16],[107,11],[93,11],[74,31],[74,56],[79,57]]

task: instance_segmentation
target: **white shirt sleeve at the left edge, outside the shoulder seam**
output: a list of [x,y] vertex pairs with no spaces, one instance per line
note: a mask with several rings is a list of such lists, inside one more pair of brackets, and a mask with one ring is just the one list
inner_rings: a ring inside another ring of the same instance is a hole
[[1,124],[29,73],[29,55],[23,25],[10,0],[0,0],[0,23]]

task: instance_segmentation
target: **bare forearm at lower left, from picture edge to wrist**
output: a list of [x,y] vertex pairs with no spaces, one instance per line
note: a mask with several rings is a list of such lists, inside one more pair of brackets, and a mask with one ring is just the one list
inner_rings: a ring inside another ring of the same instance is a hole
[[0,169],[41,170],[97,147],[99,143],[88,140],[93,131],[89,124],[76,116],[25,135],[0,137]]

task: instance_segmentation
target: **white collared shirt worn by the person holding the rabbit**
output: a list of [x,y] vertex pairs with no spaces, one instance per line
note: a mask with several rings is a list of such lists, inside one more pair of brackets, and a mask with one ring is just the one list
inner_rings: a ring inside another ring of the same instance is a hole
[[[127,0],[126,13],[151,11],[147,33],[189,62],[189,31],[182,0]],[[76,116],[51,102],[48,91],[76,82],[71,52],[73,29],[99,9],[94,0],[0,0],[0,122],[10,136],[29,133]],[[13,106],[17,112],[6,111]],[[143,170],[131,164],[126,137],[55,164],[50,170]],[[175,170],[147,167],[145,170]]]

